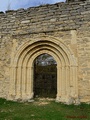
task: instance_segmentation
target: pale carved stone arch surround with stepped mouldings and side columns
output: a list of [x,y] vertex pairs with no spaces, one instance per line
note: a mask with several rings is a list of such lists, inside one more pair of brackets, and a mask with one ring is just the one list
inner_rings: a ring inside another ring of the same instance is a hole
[[76,58],[59,39],[46,36],[30,40],[16,51],[11,65],[10,96],[13,99],[32,97],[33,61],[43,53],[50,54],[57,62],[57,98],[63,102],[66,97],[78,96]]

